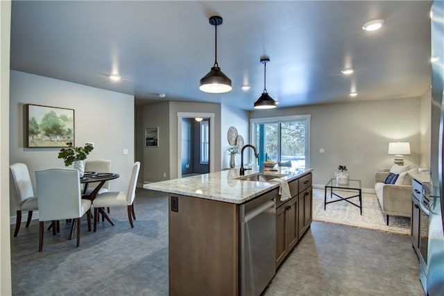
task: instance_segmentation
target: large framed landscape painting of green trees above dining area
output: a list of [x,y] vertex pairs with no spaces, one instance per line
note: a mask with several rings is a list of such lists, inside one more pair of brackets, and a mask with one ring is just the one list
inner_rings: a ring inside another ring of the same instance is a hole
[[26,147],[74,146],[74,109],[26,104]]

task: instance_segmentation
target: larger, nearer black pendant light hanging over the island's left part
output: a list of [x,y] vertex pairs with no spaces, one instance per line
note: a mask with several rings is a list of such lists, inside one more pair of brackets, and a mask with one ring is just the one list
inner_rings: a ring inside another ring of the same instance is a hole
[[200,79],[199,89],[202,92],[210,92],[212,94],[221,94],[224,92],[230,92],[231,79],[222,73],[219,64],[217,64],[217,26],[222,24],[222,17],[214,16],[210,17],[210,24],[214,26],[215,42],[214,42],[214,65],[211,71],[207,75]]

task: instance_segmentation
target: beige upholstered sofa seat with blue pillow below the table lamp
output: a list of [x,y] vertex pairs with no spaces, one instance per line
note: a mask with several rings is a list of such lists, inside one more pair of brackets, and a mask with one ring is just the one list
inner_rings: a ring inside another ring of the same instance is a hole
[[[375,173],[375,192],[382,213],[386,215],[387,225],[389,216],[411,217],[411,177],[409,173],[413,173],[417,169],[408,170],[409,166],[395,164],[390,171]],[[387,180],[390,173],[398,175],[395,182]],[[387,182],[393,184],[387,184]]]

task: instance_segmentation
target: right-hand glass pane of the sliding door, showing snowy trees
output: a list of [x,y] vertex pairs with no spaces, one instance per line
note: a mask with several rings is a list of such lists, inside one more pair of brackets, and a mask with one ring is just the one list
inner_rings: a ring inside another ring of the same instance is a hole
[[280,123],[280,162],[291,162],[293,168],[305,168],[307,121]]

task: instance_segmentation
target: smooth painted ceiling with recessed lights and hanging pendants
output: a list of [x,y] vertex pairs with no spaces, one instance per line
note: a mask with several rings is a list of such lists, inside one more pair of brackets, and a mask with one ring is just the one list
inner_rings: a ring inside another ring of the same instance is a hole
[[[253,110],[422,96],[430,87],[432,1],[12,1],[10,68],[154,101]],[[225,94],[200,92],[217,62]],[[384,19],[375,32],[362,25]],[[355,68],[344,76],[341,69]],[[119,73],[121,81],[108,76]],[[242,85],[250,85],[248,91]],[[355,91],[358,96],[351,98]],[[158,94],[165,94],[160,98]]]

